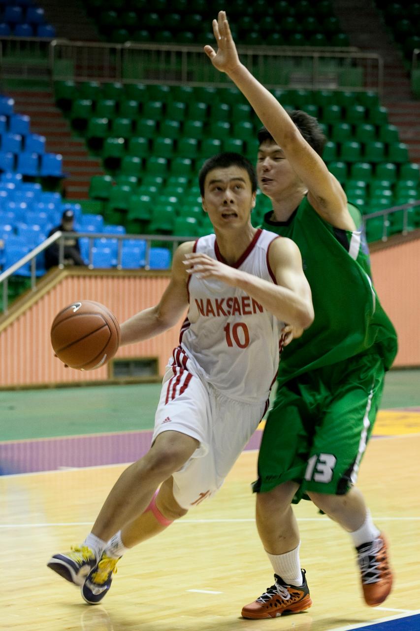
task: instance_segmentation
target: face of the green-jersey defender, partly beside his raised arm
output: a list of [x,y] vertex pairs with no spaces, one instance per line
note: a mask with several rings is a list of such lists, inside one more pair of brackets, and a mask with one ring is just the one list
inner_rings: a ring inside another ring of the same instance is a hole
[[257,177],[261,191],[269,198],[275,198],[300,184],[300,179],[284,155],[283,149],[271,141],[260,144]]

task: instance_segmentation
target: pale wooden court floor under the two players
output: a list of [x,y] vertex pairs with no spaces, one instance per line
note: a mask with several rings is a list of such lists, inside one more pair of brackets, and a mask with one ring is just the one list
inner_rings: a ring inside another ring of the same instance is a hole
[[[240,610],[272,584],[257,536],[255,452],[221,491],[119,562],[101,606],[45,566],[80,543],[123,466],[0,477],[0,627],[27,631],[335,631],[420,613],[420,434],[371,440],[359,487],[390,540],[395,588],[382,607],[361,599],[349,538],[309,502],[296,507],[313,606],[270,620]],[[410,618],[407,618],[409,620]],[[419,618],[416,618],[418,621]],[[413,619],[414,621],[414,619]],[[414,631],[419,623],[413,622]],[[385,627],[378,625],[378,630]],[[394,623],[387,625],[393,631]]]

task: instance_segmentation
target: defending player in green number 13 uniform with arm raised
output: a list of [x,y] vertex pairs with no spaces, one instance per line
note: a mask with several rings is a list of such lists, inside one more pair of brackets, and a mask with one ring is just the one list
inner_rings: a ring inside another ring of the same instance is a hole
[[[299,603],[300,610],[310,606],[291,508],[301,498],[349,533],[363,596],[376,606],[392,587],[387,544],[354,483],[397,336],[371,283],[358,211],[320,157],[325,138],[316,119],[289,115],[241,64],[224,11],[213,30],[218,50],[207,45],[207,56],[265,125],[257,174],[273,209],[263,227],[299,246],[315,310],[312,326],[282,354],[254,485],[257,527],[275,582],[242,615],[269,618],[296,611]],[[293,333],[297,338],[302,332]]]

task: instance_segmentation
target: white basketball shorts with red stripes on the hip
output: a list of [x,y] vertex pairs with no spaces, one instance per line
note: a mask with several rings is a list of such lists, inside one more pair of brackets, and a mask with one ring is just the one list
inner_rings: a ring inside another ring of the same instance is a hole
[[173,496],[190,509],[221,487],[264,416],[266,402],[226,397],[184,367],[168,366],[155,415],[153,440],[161,432],[185,433],[200,443],[173,474]]

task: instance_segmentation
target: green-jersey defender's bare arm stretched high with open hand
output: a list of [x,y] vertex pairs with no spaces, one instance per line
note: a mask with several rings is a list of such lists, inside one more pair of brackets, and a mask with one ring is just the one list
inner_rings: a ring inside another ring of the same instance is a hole
[[204,51],[213,66],[228,74],[242,91],[260,121],[282,148],[296,174],[308,188],[308,199],[313,208],[335,227],[356,230],[347,210],[346,194],[339,181],[303,138],[286,110],[240,62],[225,11],[219,11],[218,20],[213,20],[213,32],[218,50],[216,52],[206,45]]

